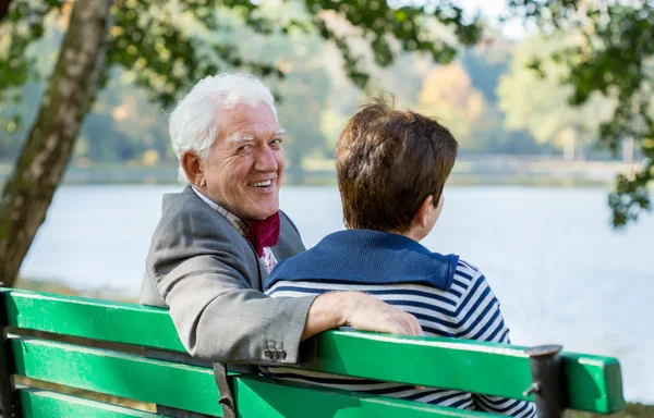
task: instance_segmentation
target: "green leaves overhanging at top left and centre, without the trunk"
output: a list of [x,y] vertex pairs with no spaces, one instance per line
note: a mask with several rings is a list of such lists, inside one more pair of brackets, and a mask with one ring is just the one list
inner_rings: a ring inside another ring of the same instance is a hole
[[[43,76],[36,70],[36,58],[26,56],[25,51],[44,36],[45,17],[51,12],[65,12],[71,4],[64,0],[12,2],[0,26],[0,36],[9,44],[5,57],[0,60],[0,102],[7,102],[2,95],[7,95],[10,87]],[[146,88],[153,100],[168,106],[184,88],[218,71],[237,69],[257,75],[283,76],[279,63],[262,62],[242,53],[239,45],[244,39],[231,36],[230,24],[218,19],[226,10],[264,35],[317,30],[338,47],[347,75],[360,87],[367,85],[370,74],[363,65],[362,53],[354,51],[349,41],[349,33],[364,39],[375,63],[386,66],[400,49],[425,52],[436,62],[447,63],[455,58],[458,42],[474,44],[482,29],[476,20],[465,19],[461,8],[445,0],[428,7],[393,7],[392,1],[382,0],[305,0],[300,2],[300,12],[296,4],[281,0],[272,7],[270,2],[249,0],[116,0],[111,7],[101,83],[113,67],[133,70],[137,74],[136,84]],[[277,12],[267,13],[275,8]],[[189,29],[190,22],[198,24],[203,32],[220,36],[213,36],[210,40],[199,37]],[[335,28],[335,22],[346,23],[349,33]],[[453,34],[450,41],[434,32],[434,25],[447,26]]]

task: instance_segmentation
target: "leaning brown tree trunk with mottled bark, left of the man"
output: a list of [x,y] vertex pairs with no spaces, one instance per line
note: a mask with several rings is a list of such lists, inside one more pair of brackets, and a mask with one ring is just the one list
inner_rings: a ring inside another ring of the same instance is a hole
[[0,200],[0,282],[13,285],[88,112],[112,0],[77,0],[36,122]]

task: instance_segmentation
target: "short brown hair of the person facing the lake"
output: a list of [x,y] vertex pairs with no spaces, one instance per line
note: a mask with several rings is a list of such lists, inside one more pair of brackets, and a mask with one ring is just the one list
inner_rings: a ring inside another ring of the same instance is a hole
[[438,205],[457,148],[432,118],[385,99],[362,107],[336,145],[346,226],[407,232],[427,196]]

